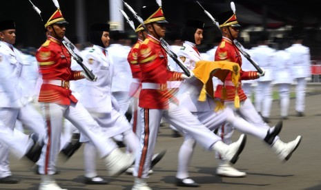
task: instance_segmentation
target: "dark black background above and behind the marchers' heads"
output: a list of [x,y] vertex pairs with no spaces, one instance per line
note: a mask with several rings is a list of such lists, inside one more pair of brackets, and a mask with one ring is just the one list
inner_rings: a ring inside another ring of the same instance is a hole
[[[66,36],[68,39],[76,41],[79,36],[76,35],[77,30],[77,8],[76,2],[84,1],[85,27],[95,22],[109,21],[109,2],[107,0],[68,0],[59,1],[60,8],[64,14],[64,18],[69,22],[67,26]],[[110,0],[110,2],[113,0]],[[33,0],[35,6],[40,10],[46,8],[50,0]],[[139,14],[142,6],[154,3],[153,0],[127,0]],[[311,49],[312,59],[321,60],[321,14],[319,8],[321,1],[305,0],[293,2],[289,0],[235,0],[236,15],[242,29],[260,26],[271,36],[276,33],[289,35],[289,29],[284,29],[286,25],[298,25],[304,28],[305,40],[304,45]],[[231,1],[224,0],[200,0],[204,8],[210,12],[213,17],[219,12],[231,10]],[[204,42],[201,50],[213,47],[213,43],[220,37],[220,31],[213,26],[211,20],[204,14],[200,6],[194,0],[163,0],[162,8],[166,20],[170,22],[168,25],[168,36],[173,32],[179,31],[185,19],[202,19],[205,21],[206,30],[204,31]],[[126,10],[126,8],[124,8]],[[128,13],[128,15],[130,15]],[[11,0],[1,2],[1,19],[14,19],[17,25],[17,43],[19,47],[39,47],[46,36],[43,32],[43,23],[37,12],[33,10],[28,0]],[[131,31],[128,24],[125,23],[125,30]],[[250,32],[250,36],[255,36],[255,31]],[[86,31],[84,31],[86,35]],[[258,34],[258,33],[257,33]],[[84,39],[84,38],[82,38]],[[254,39],[254,38],[253,38]],[[242,39],[240,39],[242,41]],[[273,41],[273,37],[271,38]],[[82,41],[84,42],[84,41]],[[75,43],[75,42],[74,42]],[[244,45],[252,43],[245,41]]]

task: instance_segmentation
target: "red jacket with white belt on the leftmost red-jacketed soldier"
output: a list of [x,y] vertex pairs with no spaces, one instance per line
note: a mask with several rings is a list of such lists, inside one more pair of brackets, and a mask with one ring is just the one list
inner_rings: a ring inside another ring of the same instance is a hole
[[61,41],[48,36],[48,39],[37,51],[36,59],[43,84],[39,93],[41,103],[59,103],[70,105],[70,101],[77,103],[75,96],[68,87],[49,84],[52,80],[72,81],[83,78],[80,71],[70,69],[71,56]]

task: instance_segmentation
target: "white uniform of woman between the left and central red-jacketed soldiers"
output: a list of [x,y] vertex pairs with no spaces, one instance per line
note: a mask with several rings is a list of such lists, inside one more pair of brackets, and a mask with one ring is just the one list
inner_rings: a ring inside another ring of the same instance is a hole
[[[106,55],[103,54],[106,52]],[[93,74],[97,76],[95,83],[85,81],[81,91],[80,102],[88,109],[91,116],[99,123],[104,131],[104,137],[110,138],[119,134],[124,136],[124,143],[132,153],[139,146],[139,140],[128,123],[126,116],[121,112],[116,98],[113,96],[111,87],[113,84],[114,63],[108,50],[94,45],[84,53],[84,62],[89,63]],[[128,65],[128,63],[127,63]],[[124,82],[124,81],[123,81]],[[81,142],[87,142],[88,138],[81,134]],[[95,148],[91,142],[85,147],[85,176],[94,178],[97,176],[95,168]]]

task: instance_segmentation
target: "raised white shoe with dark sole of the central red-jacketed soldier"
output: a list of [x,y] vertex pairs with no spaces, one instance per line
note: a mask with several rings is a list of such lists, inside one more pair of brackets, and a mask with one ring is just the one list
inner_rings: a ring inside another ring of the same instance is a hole
[[222,156],[222,160],[229,161],[232,165],[234,165],[243,151],[245,143],[246,135],[242,134],[239,140],[233,142],[231,145],[226,145],[222,141],[216,142],[213,146],[213,149],[218,151],[218,153]]

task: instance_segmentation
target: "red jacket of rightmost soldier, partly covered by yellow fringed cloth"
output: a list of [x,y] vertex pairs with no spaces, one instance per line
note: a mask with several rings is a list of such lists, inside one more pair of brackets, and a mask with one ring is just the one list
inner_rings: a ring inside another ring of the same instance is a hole
[[237,47],[234,45],[234,43],[227,38],[222,38],[222,41],[220,45],[218,45],[217,50],[215,52],[215,61],[231,61],[238,63],[241,67],[240,70],[240,83],[237,86],[237,89],[233,85],[227,85],[229,81],[231,81],[231,73],[226,76],[226,81],[225,81],[225,88],[226,88],[226,98],[222,98],[222,89],[223,85],[217,85],[216,91],[215,91],[215,98],[221,98],[226,101],[234,101],[235,98],[235,90],[237,90],[237,94],[240,98],[240,101],[246,99],[246,95],[243,92],[242,89],[242,83],[241,80],[253,80],[256,78],[259,78],[257,75],[257,72],[254,71],[249,71],[249,72],[244,72],[242,70],[242,57],[240,55],[239,50],[237,50]]

